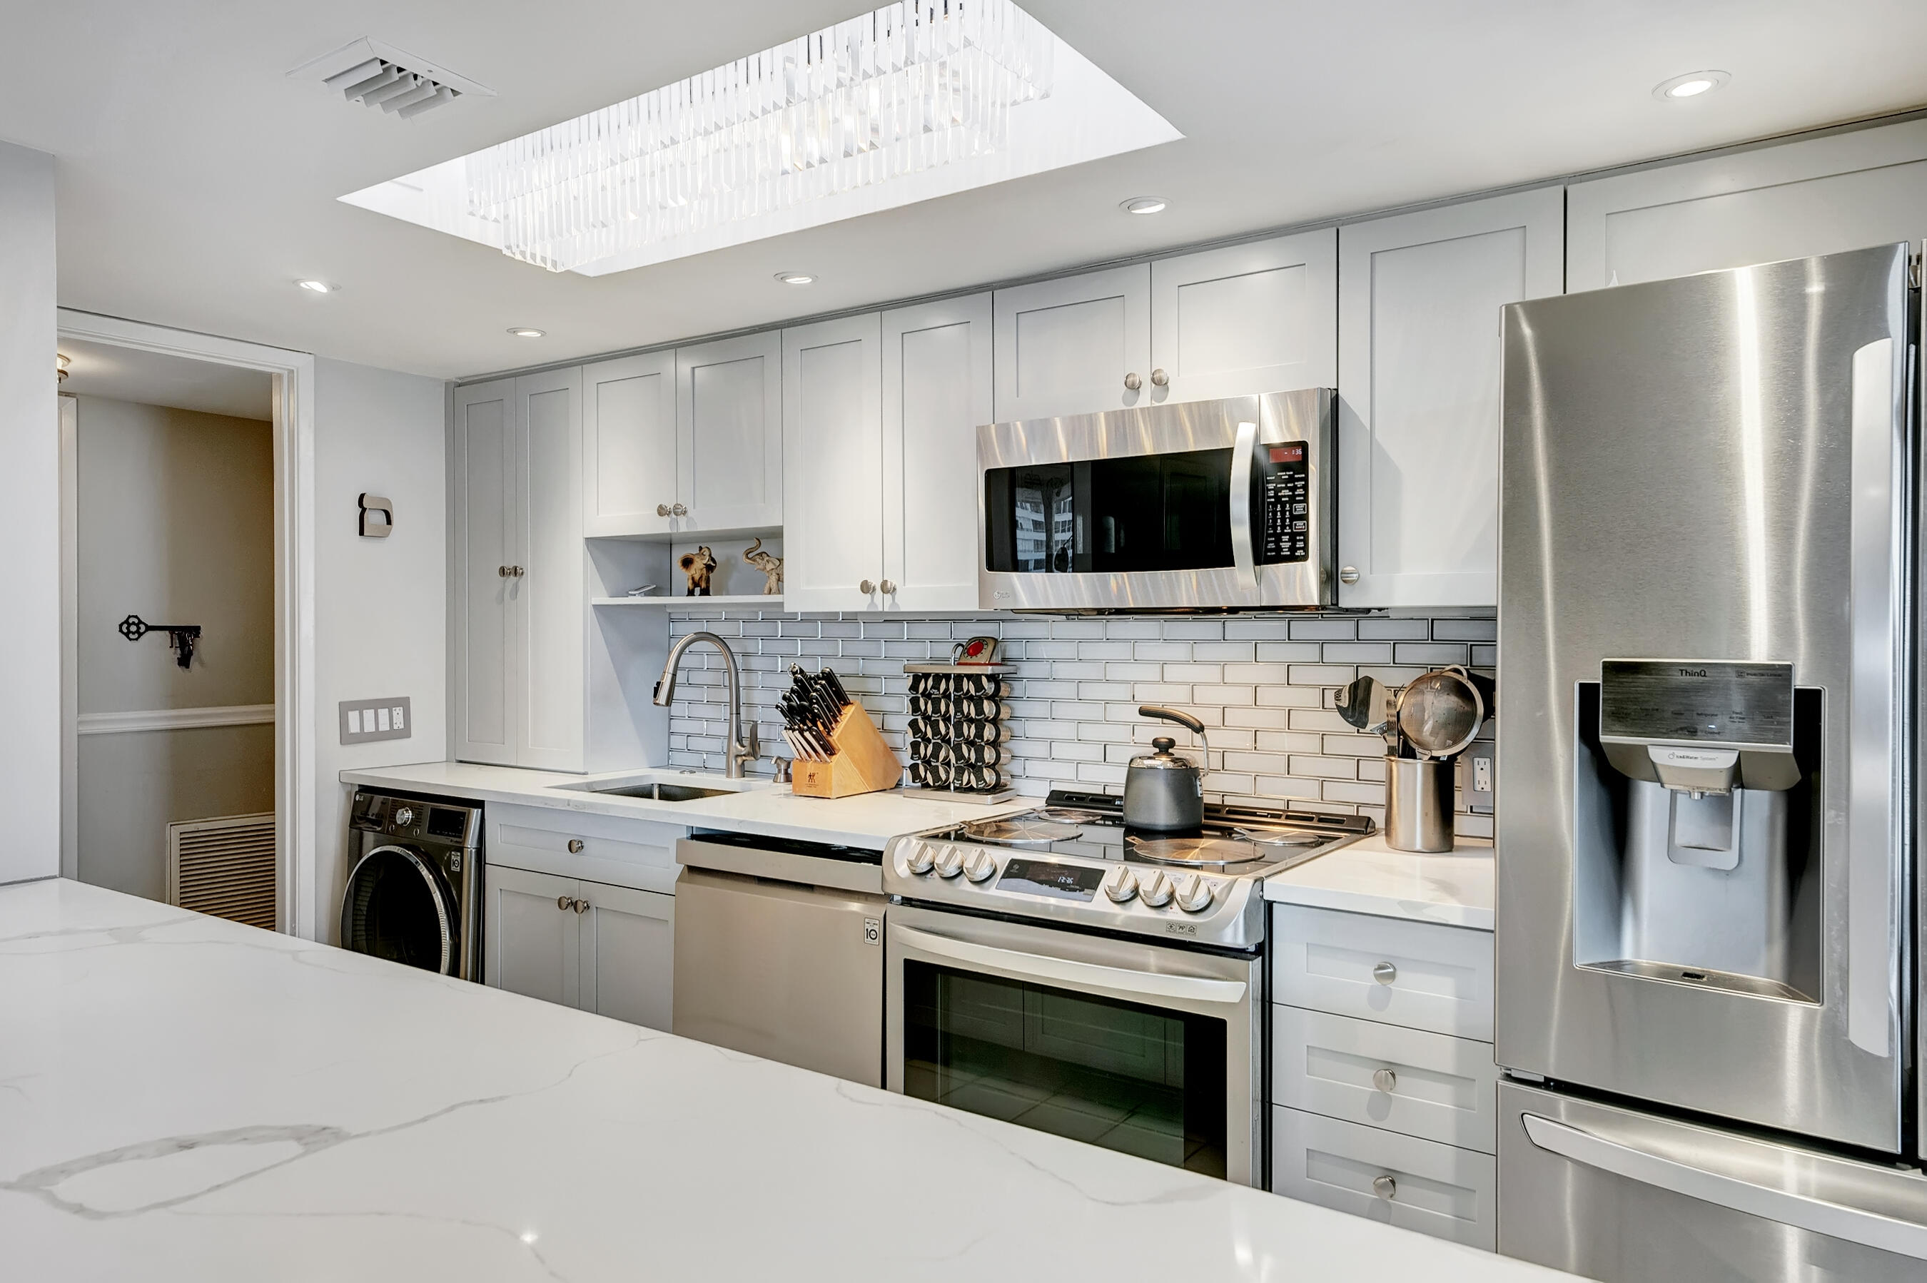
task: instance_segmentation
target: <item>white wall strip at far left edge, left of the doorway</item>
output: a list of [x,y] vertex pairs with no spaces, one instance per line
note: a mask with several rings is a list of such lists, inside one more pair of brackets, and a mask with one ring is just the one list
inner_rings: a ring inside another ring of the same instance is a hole
[[0,143],[0,882],[60,873],[54,158]]

